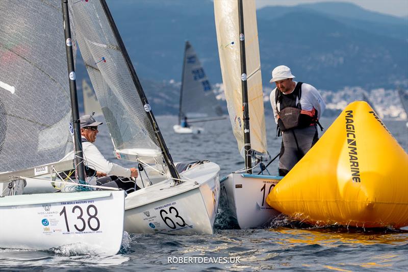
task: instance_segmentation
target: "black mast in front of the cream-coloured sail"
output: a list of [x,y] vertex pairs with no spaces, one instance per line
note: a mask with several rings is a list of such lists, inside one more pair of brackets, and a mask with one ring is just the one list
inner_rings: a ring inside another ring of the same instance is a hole
[[248,174],[252,174],[251,161],[251,139],[249,134],[249,108],[248,108],[248,84],[246,75],[245,59],[245,32],[244,32],[244,13],[242,0],[238,0],[238,20],[239,20],[239,45],[241,57],[241,89],[242,89],[242,114],[244,122],[244,150],[245,150],[245,168]]

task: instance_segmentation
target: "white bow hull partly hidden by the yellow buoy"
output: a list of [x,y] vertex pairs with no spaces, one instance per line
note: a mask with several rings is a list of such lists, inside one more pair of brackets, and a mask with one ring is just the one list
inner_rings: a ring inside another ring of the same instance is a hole
[[225,217],[238,222],[241,229],[260,228],[280,212],[267,203],[269,191],[281,177],[232,173],[221,180],[220,201]]

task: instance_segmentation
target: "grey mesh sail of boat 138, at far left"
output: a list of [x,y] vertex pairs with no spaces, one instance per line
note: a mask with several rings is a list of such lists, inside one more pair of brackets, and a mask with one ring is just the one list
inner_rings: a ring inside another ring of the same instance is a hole
[[0,172],[73,149],[64,40],[60,0],[0,1]]

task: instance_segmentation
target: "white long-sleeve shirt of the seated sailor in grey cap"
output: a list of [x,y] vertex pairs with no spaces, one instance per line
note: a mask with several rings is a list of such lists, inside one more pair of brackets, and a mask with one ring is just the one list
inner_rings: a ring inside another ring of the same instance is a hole
[[[124,168],[105,159],[104,155],[99,152],[93,143],[88,141],[83,142],[82,150],[84,153],[85,165],[88,165],[96,171],[106,173],[107,175],[131,177],[131,169]],[[68,159],[73,159],[73,152],[67,154],[62,160]]]

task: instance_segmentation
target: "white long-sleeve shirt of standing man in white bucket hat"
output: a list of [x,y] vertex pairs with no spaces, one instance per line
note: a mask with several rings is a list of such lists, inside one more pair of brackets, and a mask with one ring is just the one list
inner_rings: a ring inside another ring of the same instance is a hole
[[[295,82],[295,81],[294,81]],[[297,82],[295,82],[297,84]],[[326,103],[324,103],[323,97],[320,95],[319,91],[310,84],[303,83],[301,86],[301,96],[300,96],[300,106],[302,110],[305,111],[312,111],[313,108],[317,110],[317,118],[320,119],[323,111],[326,109]],[[277,111],[276,111],[276,103],[275,103],[275,92],[279,91],[277,88],[274,88],[269,95],[269,100],[271,102],[272,110],[273,110],[273,117],[275,118],[275,122],[277,123]],[[282,95],[285,95],[282,93]],[[296,105],[297,105],[297,98],[296,98]],[[277,105],[278,111],[281,111],[279,103]]]

